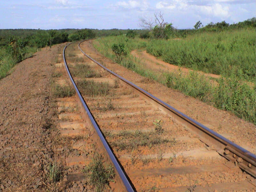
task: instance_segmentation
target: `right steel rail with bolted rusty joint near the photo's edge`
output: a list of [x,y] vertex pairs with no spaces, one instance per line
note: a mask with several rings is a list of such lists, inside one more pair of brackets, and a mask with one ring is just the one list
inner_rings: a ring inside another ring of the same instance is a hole
[[[86,40],[84,40],[86,41]],[[253,177],[256,177],[256,156],[252,154],[250,151],[238,146],[237,144],[233,143],[232,141],[228,140],[227,138],[221,136],[220,134],[214,132],[210,128],[204,126],[203,124],[197,122],[196,120],[192,119],[191,117],[181,113],[179,110],[173,108],[169,104],[165,103],[164,101],[158,99],[154,95],[146,92],[145,90],[141,89],[137,85],[133,84],[132,82],[124,79],[122,76],[117,75],[113,71],[109,70],[108,68],[101,65],[96,60],[92,59],[89,55],[87,55],[81,48],[80,44],[84,41],[81,41],[78,44],[80,51],[88,57],[93,62],[97,63],[100,67],[107,70],[112,75],[116,76],[117,78],[121,79],[126,84],[129,84],[133,88],[135,88],[140,95],[144,96],[144,98],[148,99],[149,101],[153,101],[152,104],[158,107],[165,112],[166,114],[172,116],[177,121],[179,121],[183,126],[188,128],[191,132],[194,132],[196,135],[199,136],[200,140],[202,140],[208,146],[214,146],[216,151],[221,155],[227,158],[228,160],[234,162],[235,165],[238,165],[241,169],[251,174]]]

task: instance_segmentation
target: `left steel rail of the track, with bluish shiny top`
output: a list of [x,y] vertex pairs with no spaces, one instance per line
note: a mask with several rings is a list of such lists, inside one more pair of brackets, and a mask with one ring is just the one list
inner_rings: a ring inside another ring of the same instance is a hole
[[[70,44],[71,44],[71,43],[69,43],[68,45],[70,45]],[[125,188],[126,188],[126,191],[128,191],[128,192],[134,192],[134,190],[133,190],[133,188],[132,188],[132,186],[131,186],[129,180],[127,179],[126,175],[124,174],[124,171],[122,170],[121,166],[120,166],[119,163],[117,162],[115,155],[114,155],[113,152],[111,151],[111,149],[110,149],[110,147],[109,147],[107,141],[105,140],[105,138],[104,138],[102,132],[100,131],[98,125],[96,124],[94,118],[92,117],[92,114],[91,114],[89,108],[87,107],[87,105],[86,105],[86,103],[85,103],[85,101],[84,101],[84,99],[83,99],[81,93],[79,92],[79,90],[78,90],[78,88],[77,88],[77,86],[76,86],[76,83],[75,83],[73,77],[71,76],[71,74],[70,74],[70,72],[69,72],[69,70],[68,70],[68,65],[67,65],[66,58],[65,58],[65,50],[66,50],[66,48],[67,48],[68,45],[66,45],[66,46],[64,47],[64,49],[63,49],[63,60],[64,60],[64,63],[65,63],[66,70],[67,70],[67,72],[68,72],[68,76],[69,76],[69,78],[70,78],[72,84],[74,85],[74,88],[75,88],[75,90],[76,90],[76,93],[77,93],[77,95],[78,95],[80,101],[82,102],[82,105],[83,105],[83,107],[84,107],[84,109],[85,109],[87,115],[89,116],[89,118],[90,118],[90,120],[91,120],[91,123],[92,123],[94,129],[96,130],[98,136],[100,137],[100,140],[101,140],[103,146],[105,147],[105,149],[106,149],[106,151],[107,151],[107,153],[108,153],[108,156],[109,156],[109,158],[111,159],[112,164],[114,165],[114,167],[115,167],[115,169],[116,169],[116,171],[117,171],[119,177],[121,178],[121,180],[122,180],[122,182],[123,182],[123,185],[124,185]]]

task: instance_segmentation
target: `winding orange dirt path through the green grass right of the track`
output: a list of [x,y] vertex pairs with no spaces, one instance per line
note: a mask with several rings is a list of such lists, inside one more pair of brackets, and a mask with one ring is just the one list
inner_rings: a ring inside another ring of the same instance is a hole
[[[136,57],[141,59],[149,68],[155,69],[155,70],[164,70],[164,71],[169,71],[169,72],[174,72],[180,69],[184,73],[188,73],[189,71],[193,71],[192,69],[188,68],[183,68],[179,67],[177,65],[172,65],[170,63],[166,63],[163,60],[157,59],[155,56],[150,55],[147,53],[147,51],[138,51],[138,50],[133,50],[131,54]],[[197,71],[200,75],[204,75],[207,77],[214,77],[214,78],[220,78],[220,75],[215,75],[215,74],[209,74],[209,73],[204,73],[201,71]]]

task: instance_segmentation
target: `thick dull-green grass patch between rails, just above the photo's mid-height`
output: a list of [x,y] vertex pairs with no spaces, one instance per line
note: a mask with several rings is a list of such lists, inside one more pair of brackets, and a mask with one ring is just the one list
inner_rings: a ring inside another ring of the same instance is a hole
[[98,83],[92,80],[79,80],[76,85],[83,95],[88,96],[108,95],[111,88],[108,83]]

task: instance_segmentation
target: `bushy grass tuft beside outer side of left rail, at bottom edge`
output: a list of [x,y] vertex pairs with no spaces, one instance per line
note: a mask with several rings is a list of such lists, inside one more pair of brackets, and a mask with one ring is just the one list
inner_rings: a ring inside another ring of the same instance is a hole
[[89,173],[90,183],[96,187],[97,192],[104,191],[109,181],[114,181],[113,179],[115,178],[113,166],[104,165],[103,161],[103,156],[96,154],[92,159],[92,163],[84,169],[84,172]]

